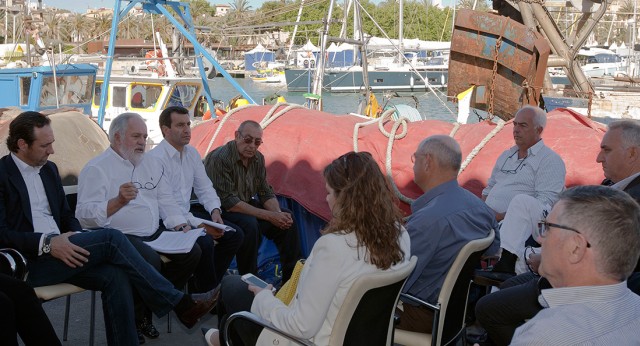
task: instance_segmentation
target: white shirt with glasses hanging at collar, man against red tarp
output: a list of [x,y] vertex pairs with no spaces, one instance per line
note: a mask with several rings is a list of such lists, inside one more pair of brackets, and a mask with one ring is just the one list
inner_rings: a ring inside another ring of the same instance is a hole
[[503,152],[496,161],[487,187],[487,205],[498,213],[507,211],[511,199],[519,194],[532,196],[543,206],[552,206],[564,189],[567,173],[560,155],[540,140],[518,159],[518,147]]

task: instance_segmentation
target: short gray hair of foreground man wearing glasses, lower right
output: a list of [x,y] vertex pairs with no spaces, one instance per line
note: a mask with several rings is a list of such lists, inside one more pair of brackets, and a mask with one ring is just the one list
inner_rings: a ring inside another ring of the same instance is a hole
[[562,218],[585,235],[596,253],[596,269],[626,280],[640,256],[640,206],[626,192],[578,186],[560,194]]

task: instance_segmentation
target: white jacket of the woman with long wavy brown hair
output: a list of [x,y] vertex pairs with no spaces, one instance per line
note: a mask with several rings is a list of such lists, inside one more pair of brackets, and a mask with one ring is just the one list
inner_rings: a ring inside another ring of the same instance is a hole
[[[399,243],[404,261],[387,269],[389,271],[403,268],[411,258],[411,241],[404,228]],[[251,312],[286,333],[316,345],[327,345],[340,306],[353,282],[363,274],[381,271],[365,258],[365,249],[357,246],[354,233],[323,235],[313,245],[302,268],[291,303],[287,306],[269,290],[262,290],[253,299]],[[276,340],[280,346],[290,344],[264,329],[257,345],[275,345]]]

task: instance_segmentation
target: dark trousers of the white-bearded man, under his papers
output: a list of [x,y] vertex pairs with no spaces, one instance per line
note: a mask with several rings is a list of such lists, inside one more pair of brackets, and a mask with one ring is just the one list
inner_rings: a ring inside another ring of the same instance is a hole
[[[171,260],[168,263],[163,263],[160,258],[161,254],[145,243],[145,241],[157,238],[163,231],[166,231],[166,228],[160,227],[156,233],[149,237],[139,237],[130,234],[127,234],[126,236],[131,242],[131,245],[138,250],[142,258],[144,258],[147,263],[151,264],[151,266],[161,273],[162,276],[167,278],[175,288],[181,290],[187,284],[187,280],[189,280],[191,275],[193,275],[193,272],[198,265],[198,261],[200,261],[202,250],[198,243],[196,243],[191,251],[184,254],[162,254]],[[213,244],[211,248],[213,248]],[[136,291],[133,292],[133,304],[136,324],[139,325],[144,317],[150,319],[151,310],[145,306],[142,298]]]

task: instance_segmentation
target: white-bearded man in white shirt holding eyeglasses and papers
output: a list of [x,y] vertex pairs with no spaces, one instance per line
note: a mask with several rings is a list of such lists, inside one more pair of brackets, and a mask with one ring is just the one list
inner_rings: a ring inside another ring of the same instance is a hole
[[[84,228],[122,231],[147,262],[182,289],[200,260],[201,250],[195,244],[188,253],[163,254],[171,260],[163,263],[160,254],[145,243],[167,229],[186,230],[187,225],[162,165],[144,155],[146,139],[147,127],[139,114],[123,113],[113,120],[111,146],[89,161],[78,177],[76,217]],[[151,311],[145,311],[136,297],[138,329],[148,337],[158,337]],[[140,341],[144,342],[144,337]]]

